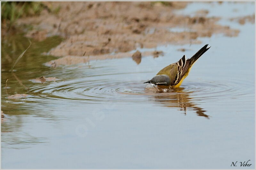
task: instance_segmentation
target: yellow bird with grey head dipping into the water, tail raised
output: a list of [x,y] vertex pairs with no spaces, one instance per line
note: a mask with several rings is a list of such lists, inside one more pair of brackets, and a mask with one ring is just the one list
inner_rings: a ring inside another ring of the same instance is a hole
[[206,44],[187,60],[186,55],[183,55],[178,62],[164,67],[151,80],[144,83],[152,83],[159,86],[169,86],[170,88],[180,87],[182,81],[188,76],[191,67],[195,64],[199,57],[209,50],[210,47],[211,46],[208,47],[208,44]]

